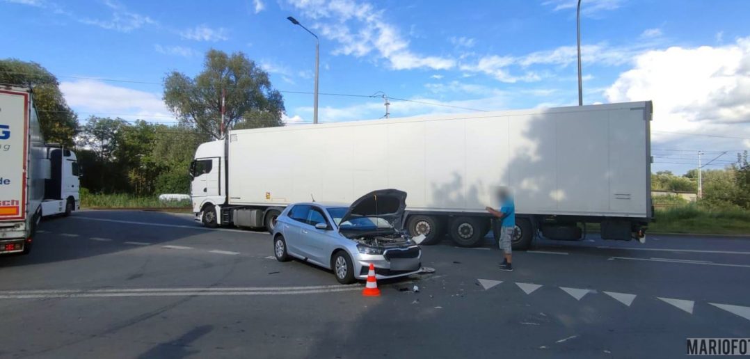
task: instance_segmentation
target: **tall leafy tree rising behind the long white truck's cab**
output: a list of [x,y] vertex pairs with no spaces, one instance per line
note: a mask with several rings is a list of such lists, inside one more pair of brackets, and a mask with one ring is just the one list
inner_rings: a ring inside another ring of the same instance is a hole
[[169,73],[164,79],[163,100],[182,124],[218,139],[223,90],[226,130],[284,125],[281,93],[272,87],[269,74],[242,52],[227,55],[210,49],[198,76]]

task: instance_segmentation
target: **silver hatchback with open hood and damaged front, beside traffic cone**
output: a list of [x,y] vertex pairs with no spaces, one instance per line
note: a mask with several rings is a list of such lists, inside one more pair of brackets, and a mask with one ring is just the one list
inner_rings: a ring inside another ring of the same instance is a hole
[[278,217],[273,232],[274,254],[332,270],[340,283],[368,277],[375,266],[378,279],[416,274],[422,250],[401,228],[407,193],[376,190],[352,205],[296,203]]

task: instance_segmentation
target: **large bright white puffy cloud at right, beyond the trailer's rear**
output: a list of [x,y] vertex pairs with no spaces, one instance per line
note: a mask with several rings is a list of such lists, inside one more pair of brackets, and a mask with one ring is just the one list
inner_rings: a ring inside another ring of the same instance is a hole
[[750,37],[727,46],[644,52],[605,96],[611,102],[653,100],[655,140],[675,138],[659,131],[750,137]]

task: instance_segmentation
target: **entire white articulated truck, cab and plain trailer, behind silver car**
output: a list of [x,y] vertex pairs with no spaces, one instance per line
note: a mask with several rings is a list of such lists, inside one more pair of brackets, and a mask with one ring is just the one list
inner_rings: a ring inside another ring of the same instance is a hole
[[229,131],[190,167],[193,212],[205,226],[272,229],[284,206],[350,203],[372,190],[408,193],[406,228],[435,243],[481,243],[484,207],[514,193],[514,247],[535,235],[643,238],[652,217],[651,102],[425,115]]

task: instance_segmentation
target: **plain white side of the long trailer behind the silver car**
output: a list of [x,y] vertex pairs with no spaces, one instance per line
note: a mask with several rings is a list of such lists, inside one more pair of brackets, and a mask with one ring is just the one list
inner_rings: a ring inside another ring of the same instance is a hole
[[229,205],[352,202],[377,188],[412,211],[650,216],[650,103],[235,130]]

